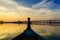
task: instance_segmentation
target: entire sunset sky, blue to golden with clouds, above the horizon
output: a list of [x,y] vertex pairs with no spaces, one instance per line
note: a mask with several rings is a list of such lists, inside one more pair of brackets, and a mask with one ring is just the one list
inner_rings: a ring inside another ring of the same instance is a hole
[[0,20],[60,19],[60,0],[0,0]]

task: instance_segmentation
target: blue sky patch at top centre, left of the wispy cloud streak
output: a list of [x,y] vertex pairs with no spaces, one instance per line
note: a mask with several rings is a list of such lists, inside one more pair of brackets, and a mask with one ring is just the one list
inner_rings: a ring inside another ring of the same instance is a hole
[[14,0],[14,1],[26,7],[32,7],[32,5],[35,5],[41,2],[42,0]]

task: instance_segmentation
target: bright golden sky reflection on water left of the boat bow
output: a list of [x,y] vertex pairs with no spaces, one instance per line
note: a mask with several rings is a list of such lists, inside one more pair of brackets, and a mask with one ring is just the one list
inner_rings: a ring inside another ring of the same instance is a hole
[[21,24],[3,24],[0,25],[0,40],[11,39],[22,33],[26,29],[26,25]]

